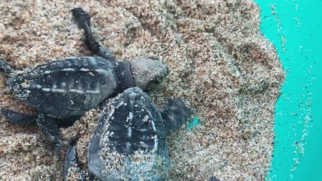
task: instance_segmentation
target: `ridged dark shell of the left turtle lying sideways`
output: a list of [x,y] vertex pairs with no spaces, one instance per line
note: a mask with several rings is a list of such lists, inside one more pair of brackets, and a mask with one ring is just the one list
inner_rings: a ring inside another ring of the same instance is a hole
[[81,116],[117,86],[114,62],[100,57],[52,60],[8,80],[16,97],[50,117]]

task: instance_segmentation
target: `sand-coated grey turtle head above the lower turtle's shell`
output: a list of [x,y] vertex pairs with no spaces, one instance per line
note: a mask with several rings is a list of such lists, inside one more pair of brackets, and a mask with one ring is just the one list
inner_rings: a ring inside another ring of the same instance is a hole
[[158,58],[140,58],[131,62],[133,82],[142,90],[158,84],[169,75],[170,70]]

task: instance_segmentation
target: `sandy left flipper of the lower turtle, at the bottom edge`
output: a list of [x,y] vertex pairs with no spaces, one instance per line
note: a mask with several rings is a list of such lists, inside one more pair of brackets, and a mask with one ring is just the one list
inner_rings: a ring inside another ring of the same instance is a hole
[[85,181],[86,180],[84,172],[81,170],[80,167],[78,167],[75,143],[76,141],[72,141],[72,143],[69,143],[67,147],[64,171],[63,171],[64,181],[66,180]]

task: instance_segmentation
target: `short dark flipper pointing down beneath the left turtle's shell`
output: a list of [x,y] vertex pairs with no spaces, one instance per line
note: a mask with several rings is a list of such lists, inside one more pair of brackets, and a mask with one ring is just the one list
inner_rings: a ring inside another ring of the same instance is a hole
[[48,117],[46,114],[40,112],[36,122],[41,132],[45,134],[45,138],[54,144],[55,151],[59,153],[61,151],[61,138],[59,138],[57,119]]

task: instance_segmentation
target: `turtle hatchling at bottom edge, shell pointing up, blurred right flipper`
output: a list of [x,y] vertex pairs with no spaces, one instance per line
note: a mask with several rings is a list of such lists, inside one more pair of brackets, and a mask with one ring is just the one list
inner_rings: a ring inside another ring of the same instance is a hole
[[[89,179],[162,180],[169,165],[166,132],[190,117],[182,99],[168,99],[159,112],[140,88],[128,88],[100,112],[88,146]],[[67,149],[64,180],[87,180],[73,144]]]

